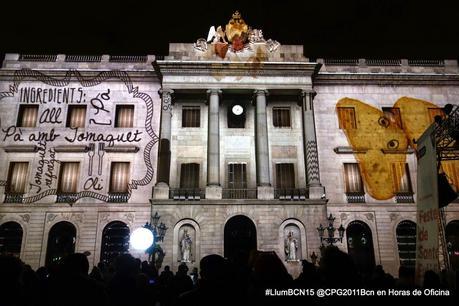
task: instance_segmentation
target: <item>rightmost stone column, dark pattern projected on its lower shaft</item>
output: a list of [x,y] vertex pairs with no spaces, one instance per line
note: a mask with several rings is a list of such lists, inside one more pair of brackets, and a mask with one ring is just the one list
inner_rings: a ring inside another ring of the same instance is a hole
[[325,195],[325,188],[320,183],[319,155],[317,151],[316,126],[314,123],[315,92],[303,90],[302,111],[303,111],[303,145],[304,162],[306,166],[306,181],[309,188],[310,199],[321,199]]

